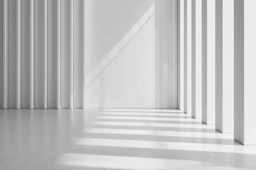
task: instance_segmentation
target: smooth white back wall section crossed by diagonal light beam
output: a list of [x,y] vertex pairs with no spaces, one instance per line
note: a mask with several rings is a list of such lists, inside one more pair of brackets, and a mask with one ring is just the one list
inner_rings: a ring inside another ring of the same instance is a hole
[[176,15],[176,1],[87,1],[87,107],[177,107]]

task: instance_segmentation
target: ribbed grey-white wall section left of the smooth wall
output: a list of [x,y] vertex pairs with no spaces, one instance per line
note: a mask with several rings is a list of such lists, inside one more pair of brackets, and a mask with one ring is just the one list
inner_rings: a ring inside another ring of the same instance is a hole
[[83,0],[1,0],[0,108],[83,108]]

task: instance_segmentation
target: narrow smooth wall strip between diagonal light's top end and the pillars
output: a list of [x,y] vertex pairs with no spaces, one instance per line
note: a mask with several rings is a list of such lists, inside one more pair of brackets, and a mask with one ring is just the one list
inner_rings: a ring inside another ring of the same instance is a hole
[[156,0],[156,108],[178,107],[178,3]]

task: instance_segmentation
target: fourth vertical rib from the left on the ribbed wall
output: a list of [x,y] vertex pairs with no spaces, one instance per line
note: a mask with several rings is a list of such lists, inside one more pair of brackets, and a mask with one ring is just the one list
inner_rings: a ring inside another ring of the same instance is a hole
[[47,108],[48,99],[48,0],[44,1],[44,69],[43,69],[43,79],[44,79],[44,91],[43,91],[43,108]]

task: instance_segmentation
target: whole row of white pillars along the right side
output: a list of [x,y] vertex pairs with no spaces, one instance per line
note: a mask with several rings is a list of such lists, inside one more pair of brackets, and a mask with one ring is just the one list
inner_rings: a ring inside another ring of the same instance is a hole
[[178,3],[179,108],[256,145],[256,1]]

